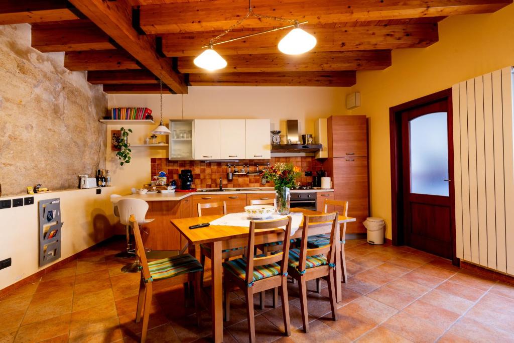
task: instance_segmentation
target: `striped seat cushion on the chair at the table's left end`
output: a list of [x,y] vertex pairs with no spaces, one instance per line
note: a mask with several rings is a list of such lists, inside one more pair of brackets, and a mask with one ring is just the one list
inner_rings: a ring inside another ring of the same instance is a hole
[[153,280],[173,278],[175,276],[195,273],[202,270],[200,262],[189,254],[168,257],[148,263]]

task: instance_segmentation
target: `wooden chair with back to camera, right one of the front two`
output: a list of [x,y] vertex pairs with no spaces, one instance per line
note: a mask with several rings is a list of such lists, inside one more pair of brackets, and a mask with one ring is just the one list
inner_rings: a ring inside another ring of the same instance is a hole
[[[332,222],[332,231],[329,244],[320,248],[307,249],[307,238],[309,225],[311,223]],[[289,263],[287,271],[289,275],[298,280],[300,288],[300,303],[302,309],[303,330],[308,332],[308,313],[307,313],[307,281],[326,277],[328,281],[328,294],[332,310],[332,318],[337,320],[336,312],[336,235],[339,233],[338,213],[328,213],[323,215],[304,215],[302,243],[300,249],[289,250]]]

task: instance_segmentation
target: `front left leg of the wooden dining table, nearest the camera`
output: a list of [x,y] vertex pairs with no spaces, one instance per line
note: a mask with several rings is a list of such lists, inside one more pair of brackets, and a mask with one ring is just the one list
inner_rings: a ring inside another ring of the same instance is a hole
[[212,273],[212,336],[214,342],[223,341],[223,286],[222,286],[222,242],[211,243]]

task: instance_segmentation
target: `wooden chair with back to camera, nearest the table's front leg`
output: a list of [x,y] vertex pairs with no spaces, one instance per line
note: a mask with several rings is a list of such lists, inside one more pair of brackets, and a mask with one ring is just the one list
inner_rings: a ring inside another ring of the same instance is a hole
[[280,287],[282,296],[282,315],[287,336],[291,335],[289,319],[289,300],[287,297],[287,261],[289,240],[284,239],[282,251],[277,254],[255,256],[253,253],[255,230],[274,229],[285,226],[285,236],[291,236],[291,216],[279,220],[250,221],[248,249],[244,258],[223,263],[225,289],[225,320],[230,320],[230,287],[236,285],[245,293],[248,315],[248,332],[250,342],[255,342],[255,317],[253,313],[253,294]]

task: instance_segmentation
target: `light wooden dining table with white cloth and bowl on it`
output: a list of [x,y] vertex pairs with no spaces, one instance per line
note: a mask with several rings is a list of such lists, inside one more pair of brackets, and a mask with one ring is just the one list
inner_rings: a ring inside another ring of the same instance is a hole
[[[322,212],[302,208],[293,208],[292,212],[302,212],[306,215],[320,215]],[[210,223],[223,215],[204,215],[194,218],[172,219],[171,224],[185,237],[189,243],[189,251],[195,256],[195,246],[209,244],[211,247],[211,311],[212,311],[212,336],[215,342],[223,341],[223,274],[222,274],[222,250],[236,247],[244,247],[248,243],[249,227],[212,225],[197,229],[190,229],[191,225]],[[355,218],[339,216],[339,223],[355,222]],[[291,235],[291,238],[301,238],[302,224],[300,228]],[[332,226],[317,225],[309,227],[309,236],[331,232]],[[339,231],[339,230],[338,230]],[[337,233],[339,237],[339,233]],[[261,230],[255,232],[255,245],[271,243],[284,240],[284,230],[281,228]],[[336,244],[336,298],[341,300],[341,272],[342,268],[340,244]]]

